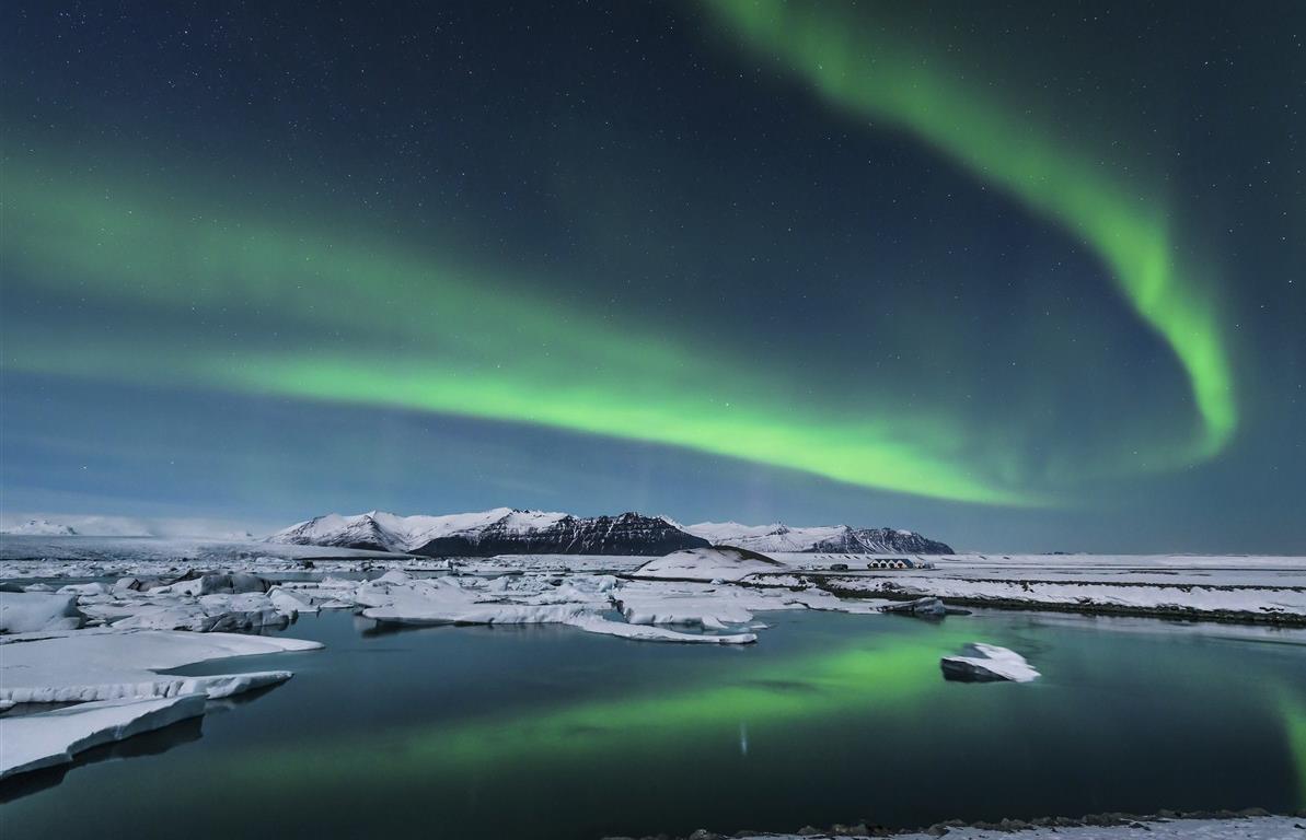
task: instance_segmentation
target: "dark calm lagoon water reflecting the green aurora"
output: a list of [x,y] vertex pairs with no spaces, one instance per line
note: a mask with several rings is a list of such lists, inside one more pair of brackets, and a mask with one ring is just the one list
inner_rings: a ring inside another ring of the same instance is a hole
[[[289,683],[10,790],[0,830],[571,840],[1306,806],[1298,634],[1023,613],[765,620],[735,650],[303,618],[287,633],[326,651],[184,669],[289,668]],[[938,657],[970,640],[1020,651],[1043,678],[944,682]]]

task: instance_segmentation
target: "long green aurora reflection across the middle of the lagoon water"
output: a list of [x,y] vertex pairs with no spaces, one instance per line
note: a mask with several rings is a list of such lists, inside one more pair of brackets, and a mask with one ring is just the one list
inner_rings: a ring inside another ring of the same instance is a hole
[[287,754],[282,745],[274,755],[243,759],[242,773],[263,775],[268,784],[285,789],[358,776],[374,781],[465,776],[535,760],[556,768],[562,762],[603,757],[674,755],[687,742],[738,732],[741,725],[820,721],[853,710],[900,713],[939,686],[939,656],[972,638],[934,626],[916,633],[927,635],[872,635],[835,652],[795,655],[765,667],[731,663],[730,672],[710,683],[678,685],[629,699],[581,700],[542,713],[515,711],[397,728],[366,741],[296,746],[289,751],[295,755],[294,772],[286,772],[278,758]]

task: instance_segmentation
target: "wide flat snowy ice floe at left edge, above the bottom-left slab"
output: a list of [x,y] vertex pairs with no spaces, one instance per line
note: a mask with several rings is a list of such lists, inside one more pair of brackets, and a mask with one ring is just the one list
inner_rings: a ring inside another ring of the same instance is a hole
[[290,678],[286,670],[206,677],[157,673],[227,656],[310,651],[302,639],[170,630],[73,630],[0,637],[0,700],[89,702],[179,697],[230,697]]

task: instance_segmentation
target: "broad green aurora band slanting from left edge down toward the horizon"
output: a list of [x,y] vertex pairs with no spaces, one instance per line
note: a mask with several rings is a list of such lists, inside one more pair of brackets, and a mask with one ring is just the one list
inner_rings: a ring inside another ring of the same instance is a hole
[[[51,290],[157,313],[148,329],[93,335],[13,323],[12,369],[439,411],[936,498],[1053,502],[999,479],[1004,453],[947,416],[821,404],[724,343],[611,323],[390,243],[65,188],[18,166],[7,176],[8,265]],[[208,331],[172,323],[195,320]],[[227,321],[243,334],[215,329]]]

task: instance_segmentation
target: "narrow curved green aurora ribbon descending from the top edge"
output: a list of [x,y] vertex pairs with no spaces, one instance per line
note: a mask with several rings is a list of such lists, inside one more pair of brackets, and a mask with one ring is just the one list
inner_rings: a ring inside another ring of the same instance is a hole
[[1230,441],[1238,407],[1218,305],[1191,266],[1175,265],[1162,202],[1140,197],[1098,159],[1075,155],[1027,115],[999,107],[940,56],[840,14],[841,4],[705,5],[744,48],[780,60],[833,107],[908,130],[1083,240],[1187,376],[1203,430],[1177,460],[1209,458]]

